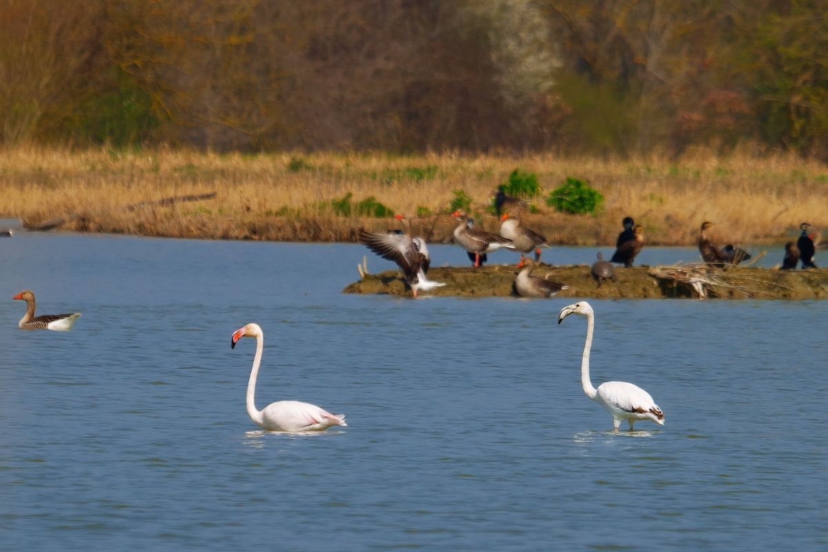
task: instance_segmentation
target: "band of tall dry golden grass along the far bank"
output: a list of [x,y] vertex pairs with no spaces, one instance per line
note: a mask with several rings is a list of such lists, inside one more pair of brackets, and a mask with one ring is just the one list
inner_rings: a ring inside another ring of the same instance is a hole
[[[630,161],[525,156],[381,153],[278,153],[245,155],[200,151],[119,152],[21,147],[0,151],[0,216],[40,223],[80,214],[66,228],[187,238],[344,241],[359,226],[393,228],[388,219],[342,217],[331,200],[373,196],[414,218],[431,240],[450,238],[444,215],[452,190],[474,199],[484,226],[498,184],[519,168],[537,174],[544,193],[567,176],[589,180],[605,196],[595,216],[558,214],[542,199],[529,226],[552,242],[610,244],[620,220],[632,215],[647,243],[691,244],[700,223],[714,221],[714,238],[750,243],[783,241],[800,222],[828,225],[828,166],[793,156],[761,159],[703,152],[678,161]],[[214,199],[128,211],[124,207],[170,196],[217,192]]]

